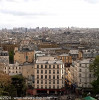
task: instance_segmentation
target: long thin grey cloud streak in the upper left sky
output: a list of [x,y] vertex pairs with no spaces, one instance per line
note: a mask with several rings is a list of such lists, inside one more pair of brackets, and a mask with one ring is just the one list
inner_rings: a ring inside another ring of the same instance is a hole
[[44,12],[39,12],[39,13],[29,13],[29,12],[21,12],[21,11],[12,11],[12,10],[4,10],[4,9],[1,9],[0,10],[1,13],[3,14],[11,14],[11,15],[14,15],[14,16],[46,16],[46,15],[49,15],[48,13],[44,13]]

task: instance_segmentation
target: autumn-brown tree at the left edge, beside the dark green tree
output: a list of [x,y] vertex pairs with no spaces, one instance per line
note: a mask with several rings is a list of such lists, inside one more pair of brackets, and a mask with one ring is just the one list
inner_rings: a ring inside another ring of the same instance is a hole
[[[11,77],[3,72],[6,67],[3,63],[0,63],[0,96],[17,96],[16,88],[12,83]],[[11,99],[12,100],[12,99]]]

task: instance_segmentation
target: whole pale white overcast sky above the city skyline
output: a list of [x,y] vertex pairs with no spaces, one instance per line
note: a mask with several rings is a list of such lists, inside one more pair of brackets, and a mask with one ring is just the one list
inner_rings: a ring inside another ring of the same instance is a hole
[[0,0],[0,28],[97,27],[99,0]]

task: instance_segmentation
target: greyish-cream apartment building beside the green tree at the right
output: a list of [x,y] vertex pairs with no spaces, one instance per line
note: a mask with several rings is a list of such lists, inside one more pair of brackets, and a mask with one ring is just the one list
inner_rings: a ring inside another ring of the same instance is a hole
[[93,72],[89,69],[91,63],[92,59],[74,61],[70,67],[71,83],[80,88],[91,88],[91,82],[95,79]]

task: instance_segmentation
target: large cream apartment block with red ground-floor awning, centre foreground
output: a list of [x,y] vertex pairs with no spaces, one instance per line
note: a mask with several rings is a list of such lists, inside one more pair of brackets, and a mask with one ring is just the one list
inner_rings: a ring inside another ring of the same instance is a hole
[[52,56],[38,57],[34,67],[34,89],[37,94],[64,91],[64,64]]

